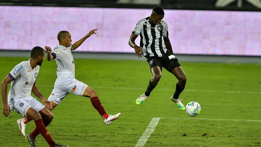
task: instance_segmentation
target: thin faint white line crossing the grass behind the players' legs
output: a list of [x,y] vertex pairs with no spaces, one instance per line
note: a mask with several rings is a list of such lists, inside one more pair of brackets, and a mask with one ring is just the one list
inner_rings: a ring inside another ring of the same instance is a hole
[[[38,85],[42,87],[53,87],[53,85]],[[146,90],[146,87],[139,88],[139,87],[92,87],[92,88],[103,88],[103,89],[140,89],[140,90]],[[167,89],[167,88],[156,88],[154,90],[175,90],[173,89]],[[251,92],[251,91],[228,91],[228,90],[204,90],[204,89],[185,89],[184,91],[188,92],[226,92],[226,93],[253,93],[253,94],[261,94],[261,92]]]

